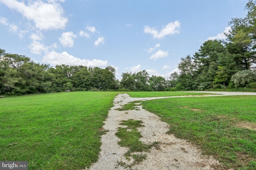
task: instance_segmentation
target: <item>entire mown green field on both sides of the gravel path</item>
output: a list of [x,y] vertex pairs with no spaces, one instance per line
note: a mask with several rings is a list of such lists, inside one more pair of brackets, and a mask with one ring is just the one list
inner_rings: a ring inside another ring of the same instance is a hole
[[[98,160],[103,121],[120,92],[70,92],[0,98],[0,160],[29,170],[74,170]],[[131,97],[180,92],[127,92]],[[195,95],[202,95],[195,94]],[[235,169],[256,169],[256,96],[170,98],[143,102],[170,133]]]

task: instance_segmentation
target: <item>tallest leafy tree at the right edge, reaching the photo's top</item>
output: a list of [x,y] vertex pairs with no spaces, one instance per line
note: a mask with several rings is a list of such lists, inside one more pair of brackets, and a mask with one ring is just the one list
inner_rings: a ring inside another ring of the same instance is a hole
[[256,63],[256,1],[246,4],[248,14],[245,18],[232,18],[231,29],[226,33],[226,47],[236,55],[236,63],[242,70],[248,70]]

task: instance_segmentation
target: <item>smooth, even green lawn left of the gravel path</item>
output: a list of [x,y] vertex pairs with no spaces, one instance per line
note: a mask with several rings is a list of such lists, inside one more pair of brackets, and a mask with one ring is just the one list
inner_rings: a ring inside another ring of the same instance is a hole
[[70,92],[0,98],[0,160],[29,170],[73,170],[98,160],[99,129],[118,92]]

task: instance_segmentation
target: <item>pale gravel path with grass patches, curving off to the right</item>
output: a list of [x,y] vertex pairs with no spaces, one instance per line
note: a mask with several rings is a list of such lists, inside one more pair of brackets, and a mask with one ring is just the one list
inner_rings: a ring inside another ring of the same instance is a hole
[[[204,92],[205,93],[205,92]],[[256,93],[244,94],[239,92],[211,92],[214,96],[227,95],[256,95]],[[204,95],[211,96],[211,95]],[[174,96],[174,97],[192,97],[192,96]],[[193,96],[194,97],[194,96]],[[198,96],[199,97],[199,96]],[[126,168],[118,166],[118,161],[131,164],[132,161],[126,160],[124,154],[127,148],[118,145],[118,137],[115,133],[121,121],[128,119],[141,120],[144,127],[140,127],[141,141],[152,144],[155,141],[160,142],[159,148],[152,148],[147,154],[147,159],[132,169],[138,170],[219,170],[222,169],[217,160],[211,156],[203,156],[196,147],[193,147],[185,140],[177,139],[174,135],[168,135],[169,125],[160,120],[160,117],[142,109],[138,104],[138,110],[118,111],[117,108],[134,101],[154,100],[159,98],[131,98],[128,94],[118,94],[114,99],[114,107],[108,113],[108,118],[104,121],[103,128],[108,132],[102,135],[101,152],[98,162],[92,165],[90,170],[124,170]]]

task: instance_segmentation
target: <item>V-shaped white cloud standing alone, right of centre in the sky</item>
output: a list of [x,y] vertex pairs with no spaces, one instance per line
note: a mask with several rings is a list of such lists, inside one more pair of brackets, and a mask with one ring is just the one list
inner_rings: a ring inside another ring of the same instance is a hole
[[158,31],[154,27],[144,27],[144,33],[150,33],[153,35],[153,38],[163,38],[166,35],[172,35],[176,33],[180,33],[180,22],[170,22],[168,23],[161,31]]

